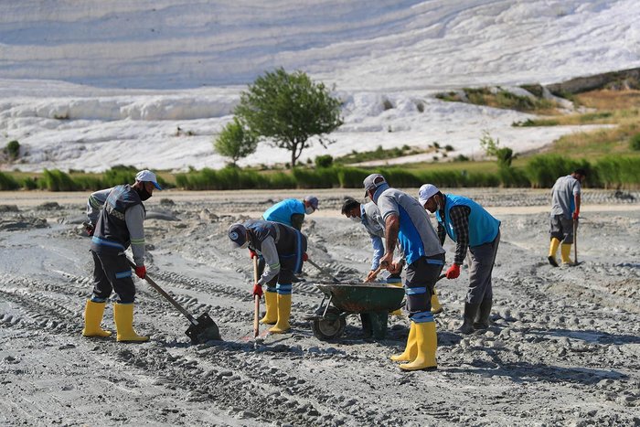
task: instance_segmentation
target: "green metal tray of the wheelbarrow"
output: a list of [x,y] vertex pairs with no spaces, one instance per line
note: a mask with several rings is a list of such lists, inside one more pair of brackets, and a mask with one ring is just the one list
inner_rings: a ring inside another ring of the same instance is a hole
[[386,283],[317,283],[336,308],[348,313],[373,313],[400,308],[404,289]]

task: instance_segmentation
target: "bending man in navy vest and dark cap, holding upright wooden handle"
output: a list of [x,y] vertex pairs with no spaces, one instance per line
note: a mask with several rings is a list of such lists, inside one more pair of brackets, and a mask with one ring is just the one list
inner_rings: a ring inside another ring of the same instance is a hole
[[267,294],[274,295],[276,301],[267,305],[263,323],[274,325],[269,329],[273,334],[287,332],[291,328],[291,279],[306,261],[306,237],[293,227],[253,219],[231,225],[228,234],[232,248],[249,248],[264,258],[266,268],[253,284],[253,295],[262,296],[262,285],[267,285]]

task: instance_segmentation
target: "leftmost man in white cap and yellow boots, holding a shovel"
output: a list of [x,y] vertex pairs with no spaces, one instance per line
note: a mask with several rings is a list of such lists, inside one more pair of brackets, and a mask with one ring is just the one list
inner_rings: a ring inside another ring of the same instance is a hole
[[83,336],[111,336],[100,324],[107,299],[115,292],[113,319],[117,340],[148,341],[133,329],[135,286],[124,251],[131,245],[135,274],[144,279],[144,200],[161,190],[155,174],[141,170],[133,185],[116,186],[92,193],[87,202],[87,233],[91,236],[93,294],[84,310]]

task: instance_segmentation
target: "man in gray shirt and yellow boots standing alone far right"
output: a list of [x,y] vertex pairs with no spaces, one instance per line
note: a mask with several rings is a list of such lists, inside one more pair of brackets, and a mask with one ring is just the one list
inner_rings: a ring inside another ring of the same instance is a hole
[[568,176],[560,176],[551,190],[551,215],[549,264],[558,267],[556,252],[562,243],[560,257],[562,265],[571,265],[571,245],[573,244],[573,222],[578,225],[580,216],[581,184],[587,173],[576,169]]

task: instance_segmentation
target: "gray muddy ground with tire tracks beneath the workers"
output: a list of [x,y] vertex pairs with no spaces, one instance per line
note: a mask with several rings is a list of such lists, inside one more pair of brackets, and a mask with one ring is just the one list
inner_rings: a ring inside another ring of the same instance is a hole
[[[640,194],[586,191],[583,263],[554,269],[548,191],[455,192],[503,221],[494,326],[456,335],[466,272],[438,283],[439,370],[412,373],[389,360],[404,346],[405,317],[392,317],[380,342],[363,338],[356,316],[335,342],[313,335],[303,316],[326,277],[311,265],[293,287],[292,332],[252,340],[251,260],[229,250],[225,230],[303,192],[149,200],[150,276],[190,312],[208,312],[224,338],[195,346],[187,319],[144,281],[135,325],[151,342],[80,336],[91,293],[87,195],[0,194],[0,424],[640,425]],[[360,190],[316,193],[322,210],[304,225],[310,257],[358,280],[368,237],[338,208]],[[109,305],[103,325],[113,329]]]

